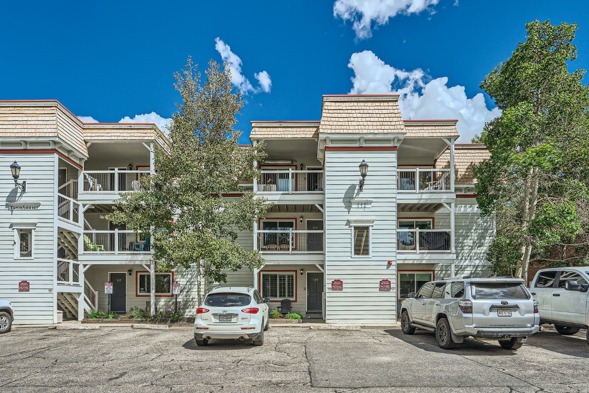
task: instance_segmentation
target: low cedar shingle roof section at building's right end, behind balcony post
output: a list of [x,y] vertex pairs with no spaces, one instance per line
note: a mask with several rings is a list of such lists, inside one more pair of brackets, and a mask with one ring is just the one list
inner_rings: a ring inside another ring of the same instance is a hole
[[[491,158],[491,153],[482,144],[456,144],[454,148],[455,184],[474,184],[472,166]],[[450,149],[448,148],[435,161],[436,168],[450,167]]]

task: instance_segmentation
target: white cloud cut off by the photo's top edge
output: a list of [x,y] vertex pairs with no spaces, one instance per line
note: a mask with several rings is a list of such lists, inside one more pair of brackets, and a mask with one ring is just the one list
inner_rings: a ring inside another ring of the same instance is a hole
[[[372,37],[373,23],[374,27],[378,27],[399,14],[419,14],[438,2],[439,0],[336,0],[333,4],[333,16],[352,21],[356,37],[363,39]],[[434,13],[433,10],[430,12]]]

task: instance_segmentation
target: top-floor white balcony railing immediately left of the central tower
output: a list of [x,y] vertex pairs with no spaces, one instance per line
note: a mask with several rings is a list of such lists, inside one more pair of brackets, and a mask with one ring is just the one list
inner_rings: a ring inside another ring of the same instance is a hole
[[254,192],[266,194],[323,194],[324,171],[294,169],[264,169],[260,180],[254,182]]

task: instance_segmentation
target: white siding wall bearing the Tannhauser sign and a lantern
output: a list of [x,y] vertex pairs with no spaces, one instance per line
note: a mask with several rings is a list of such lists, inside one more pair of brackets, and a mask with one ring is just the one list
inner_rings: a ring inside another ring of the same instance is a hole
[[[8,166],[18,161],[21,178],[27,180],[27,192],[14,188]],[[0,299],[14,306],[15,324],[54,323],[57,316],[55,293],[55,154],[2,154],[0,168],[4,175],[0,181],[0,196],[5,203],[40,202],[37,210],[0,210]],[[34,260],[14,259],[15,244],[12,223],[37,223],[34,231]],[[18,292],[18,283],[31,283],[30,292]]]

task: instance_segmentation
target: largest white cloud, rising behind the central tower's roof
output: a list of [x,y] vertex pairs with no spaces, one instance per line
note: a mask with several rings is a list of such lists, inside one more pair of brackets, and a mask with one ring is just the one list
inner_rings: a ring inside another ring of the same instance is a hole
[[485,123],[501,114],[498,108],[487,108],[482,93],[468,98],[464,86],[448,87],[447,77],[430,80],[419,68],[399,70],[371,51],[353,54],[348,67],[355,73],[350,94],[399,94],[399,107],[407,120],[458,119],[462,143],[469,143]]

